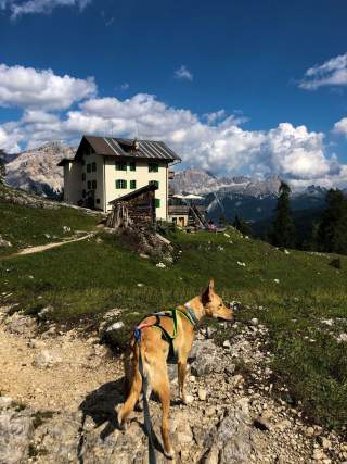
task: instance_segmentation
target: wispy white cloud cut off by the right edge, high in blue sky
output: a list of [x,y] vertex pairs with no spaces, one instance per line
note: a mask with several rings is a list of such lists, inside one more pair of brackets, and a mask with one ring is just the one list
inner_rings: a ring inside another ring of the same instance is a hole
[[306,71],[299,87],[316,90],[323,86],[347,86],[347,53]]

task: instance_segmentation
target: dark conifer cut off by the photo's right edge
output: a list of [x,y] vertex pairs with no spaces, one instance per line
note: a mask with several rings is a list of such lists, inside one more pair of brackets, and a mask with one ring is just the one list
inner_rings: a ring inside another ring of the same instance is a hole
[[318,229],[319,249],[347,254],[347,199],[340,190],[331,189],[326,193],[326,203]]

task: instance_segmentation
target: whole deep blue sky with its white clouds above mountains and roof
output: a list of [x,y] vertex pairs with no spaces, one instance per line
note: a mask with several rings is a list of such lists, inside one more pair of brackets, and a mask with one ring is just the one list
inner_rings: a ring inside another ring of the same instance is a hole
[[0,146],[138,133],[184,166],[347,185],[346,24],[345,0],[0,0]]

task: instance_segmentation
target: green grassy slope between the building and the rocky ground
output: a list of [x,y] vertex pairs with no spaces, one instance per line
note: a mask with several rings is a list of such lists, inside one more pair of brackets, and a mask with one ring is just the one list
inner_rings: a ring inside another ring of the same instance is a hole
[[[17,206],[0,208],[10,217]],[[27,216],[31,213],[38,211],[26,211]],[[44,227],[47,212],[40,213]],[[54,227],[65,225],[66,217],[49,213],[55,215]],[[12,220],[0,220],[0,234],[4,223],[4,237],[15,236]],[[14,224],[20,238],[22,226]],[[340,258],[342,269],[336,269],[330,265],[336,256],[294,250],[287,254],[233,228],[227,234],[167,233],[167,238],[177,261],[165,268],[155,265],[160,256],[140,258],[106,233],[44,253],[0,259],[0,303],[20,303],[16,309],[30,314],[52,306],[47,317],[67,326],[93,324],[103,312],[123,309],[125,327],[112,340],[123,348],[141,315],[187,301],[214,277],[226,301],[242,303],[236,321],[257,317],[269,327],[274,386],[286,381],[288,401],[300,401],[313,421],[346,424],[347,350],[336,337],[347,333],[347,258]],[[330,318],[332,326],[322,322]],[[217,337],[222,340],[222,335]]]

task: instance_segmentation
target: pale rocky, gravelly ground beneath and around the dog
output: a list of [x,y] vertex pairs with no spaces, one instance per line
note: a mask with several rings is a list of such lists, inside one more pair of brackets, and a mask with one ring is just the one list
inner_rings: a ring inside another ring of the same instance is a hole
[[[142,413],[126,431],[116,424],[121,356],[100,344],[97,331],[54,324],[42,331],[35,319],[11,313],[0,312],[0,463],[146,462]],[[265,326],[253,319],[226,327],[223,347],[210,331],[198,334],[191,353],[189,405],[178,401],[169,365],[177,463],[347,462],[340,437],[306,423],[272,391]],[[157,462],[165,463],[155,398],[150,407]]]

